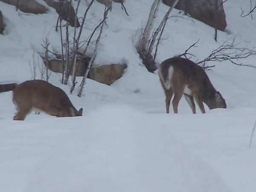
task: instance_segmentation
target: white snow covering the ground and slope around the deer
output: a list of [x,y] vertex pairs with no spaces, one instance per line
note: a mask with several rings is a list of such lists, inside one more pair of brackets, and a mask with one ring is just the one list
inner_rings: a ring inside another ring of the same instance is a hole
[[[88,79],[78,98],[69,94],[71,83],[60,83],[60,74],[50,76],[76,108],[83,107],[83,116],[56,118],[32,112],[25,121],[13,121],[12,92],[0,93],[0,192],[255,191],[256,138],[251,148],[249,143],[256,120],[256,69],[213,62],[216,67],[207,74],[227,109],[206,107],[206,114],[197,110],[193,115],[181,99],[179,113],[166,114],[159,78],[141,64],[133,42],[152,2],[125,1],[129,16],[113,3],[108,15],[95,63],[127,63],[121,79],[111,86]],[[79,16],[86,6],[82,1]],[[199,38],[198,47],[191,49],[199,59],[233,36],[241,47],[252,48],[256,21],[240,17],[241,8],[249,7],[249,0],[224,3],[228,26],[226,32],[218,32],[217,43],[214,29],[204,23],[186,16],[170,18],[157,60],[184,52]],[[50,49],[61,50],[54,30],[58,16],[52,8],[47,14],[23,14],[2,2],[0,10],[6,24],[0,35],[0,84],[32,79],[33,53],[43,52],[45,38]],[[84,39],[103,10],[97,2],[90,9]],[[167,10],[160,6],[157,21]],[[256,56],[243,62],[255,65],[255,60]],[[36,75],[40,79],[38,66]]]

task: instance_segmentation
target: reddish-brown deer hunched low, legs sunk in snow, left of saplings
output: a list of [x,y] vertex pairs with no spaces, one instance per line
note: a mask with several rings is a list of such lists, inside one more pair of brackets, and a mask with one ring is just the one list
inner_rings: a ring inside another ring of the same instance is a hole
[[[77,111],[67,94],[47,81],[25,81],[19,85],[13,84],[9,89],[4,89],[4,85],[8,87],[8,84],[3,84],[3,91],[13,90],[12,101],[17,108],[14,120],[24,120],[32,110],[57,117],[82,115],[82,108]],[[0,92],[3,91],[0,90]]]

